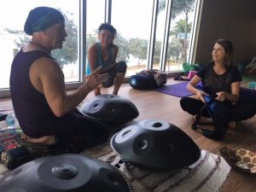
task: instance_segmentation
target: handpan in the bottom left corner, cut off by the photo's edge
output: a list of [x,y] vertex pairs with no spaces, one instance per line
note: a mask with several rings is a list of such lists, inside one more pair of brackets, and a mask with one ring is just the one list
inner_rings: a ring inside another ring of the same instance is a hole
[[32,160],[0,180],[5,192],[129,192],[117,169],[81,154],[61,154]]

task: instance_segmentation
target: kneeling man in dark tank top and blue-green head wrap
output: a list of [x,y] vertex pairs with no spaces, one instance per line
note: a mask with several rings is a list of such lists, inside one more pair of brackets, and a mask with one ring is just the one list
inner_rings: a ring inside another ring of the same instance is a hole
[[77,106],[102,84],[102,77],[90,75],[67,94],[61,67],[50,55],[51,50],[61,49],[67,38],[64,21],[57,9],[30,11],[24,31],[32,35],[32,41],[20,49],[12,63],[11,98],[28,142],[50,144],[58,137],[89,148],[108,139],[108,126],[85,117]]

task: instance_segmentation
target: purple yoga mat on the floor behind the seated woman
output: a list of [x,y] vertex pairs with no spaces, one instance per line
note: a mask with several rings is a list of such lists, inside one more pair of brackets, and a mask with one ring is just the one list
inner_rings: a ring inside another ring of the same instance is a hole
[[158,91],[160,93],[165,93],[171,96],[178,96],[178,97],[191,96],[193,95],[193,93],[191,93],[186,88],[188,83],[189,83],[188,81],[184,81],[177,84],[169,84],[169,85],[165,85],[163,87],[157,88],[155,89],[155,91]]

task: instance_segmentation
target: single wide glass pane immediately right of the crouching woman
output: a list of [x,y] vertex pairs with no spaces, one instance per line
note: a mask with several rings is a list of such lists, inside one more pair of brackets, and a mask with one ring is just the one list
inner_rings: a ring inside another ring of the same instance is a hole
[[117,61],[127,62],[126,76],[147,68],[148,39],[150,36],[153,0],[113,0],[111,23],[118,35]]

